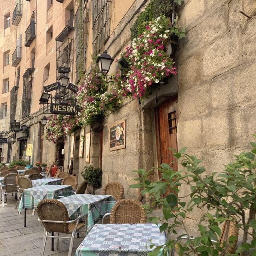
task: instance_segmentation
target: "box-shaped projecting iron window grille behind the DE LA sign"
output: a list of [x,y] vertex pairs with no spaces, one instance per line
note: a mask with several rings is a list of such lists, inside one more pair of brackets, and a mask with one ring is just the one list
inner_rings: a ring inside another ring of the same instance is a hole
[[[56,80],[59,80],[59,73],[58,68],[59,67],[70,67],[72,59],[72,43],[73,43],[73,31],[74,27],[71,27],[67,25],[64,30],[58,35],[56,40]],[[69,75],[68,73],[66,74]],[[61,89],[57,89],[57,94],[59,94],[60,97],[63,97],[67,90],[65,87]]]

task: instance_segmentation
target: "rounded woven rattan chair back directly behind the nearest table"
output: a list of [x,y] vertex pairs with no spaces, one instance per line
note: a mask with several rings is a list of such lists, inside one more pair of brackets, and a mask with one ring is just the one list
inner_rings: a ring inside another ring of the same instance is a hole
[[142,203],[136,199],[121,199],[113,206],[110,223],[146,223]]

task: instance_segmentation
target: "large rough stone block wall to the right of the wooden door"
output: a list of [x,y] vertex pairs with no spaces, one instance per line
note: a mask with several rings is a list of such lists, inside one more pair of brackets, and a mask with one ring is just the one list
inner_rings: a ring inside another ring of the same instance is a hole
[[255,133],[256,3],[190,0],[179,13],[178,148],[204,159],[207,173],[222,171]]

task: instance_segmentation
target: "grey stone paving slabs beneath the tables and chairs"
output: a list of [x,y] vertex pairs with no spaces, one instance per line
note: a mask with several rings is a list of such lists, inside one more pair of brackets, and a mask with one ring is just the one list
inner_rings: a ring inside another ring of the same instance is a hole
[[[24,227],[24,210],[18,215],[15,204],[14,196],[7,195],[7,203],[4,207],[0,206],[0,256],[39,256],[43,241],[43,226],[38,221],[37,213],[32,215],[32,210],[27,210],[27,223]],[[82,240],[81,237],[75,238],[72,255],[75,255],[75,250]],[[69,239],[60,239],[60,250],[51,251],[51,239],[48,238],[44,256],[66,256],[69,242]]]

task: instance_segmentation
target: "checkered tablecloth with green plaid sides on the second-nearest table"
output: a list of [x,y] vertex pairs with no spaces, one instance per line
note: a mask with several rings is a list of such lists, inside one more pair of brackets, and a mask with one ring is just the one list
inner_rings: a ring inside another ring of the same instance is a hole
[[58,200],[64,203],[71,219],[77,218],[81,213],[87,214],[88,230],[106,213],[110,213],[115,204],[111,195],[74,194]]

